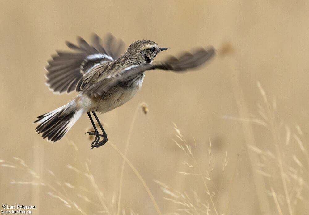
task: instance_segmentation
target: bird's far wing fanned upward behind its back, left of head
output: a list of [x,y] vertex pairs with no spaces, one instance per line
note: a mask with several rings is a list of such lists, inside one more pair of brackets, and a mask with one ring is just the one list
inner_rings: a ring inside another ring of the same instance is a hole
[[70,42],[66,45],[75,52],[56,51],[52,59],[47,61],[46,84],[55,93],[70,93],[74,90],[80,91],[83,75],[93,68],[114,61],[121,54],[123,42],[116,40],[112,34],[106,37],[104,47],[101,45],[99,36],[92,36],[92,45],[83,38],[78,37],[78,46]]

